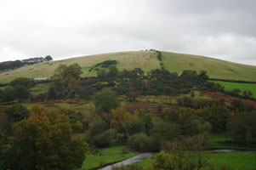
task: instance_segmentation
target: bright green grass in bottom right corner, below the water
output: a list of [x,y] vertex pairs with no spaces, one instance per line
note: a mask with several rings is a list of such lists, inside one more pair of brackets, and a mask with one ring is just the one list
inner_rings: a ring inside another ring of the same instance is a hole
[[213,153],[208,160],[214,166],[231,167],[232,170],[253,170],[255,169],[256,153]]

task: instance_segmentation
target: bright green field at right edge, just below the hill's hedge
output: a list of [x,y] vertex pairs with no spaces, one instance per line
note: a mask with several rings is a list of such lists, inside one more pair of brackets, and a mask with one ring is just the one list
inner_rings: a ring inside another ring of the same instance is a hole
[[[255,74],[256,75],[256,74]],[[211,81],[215,83],[219,83],[220,85],[225,87],[226,91],[231,91],[234,88],[241,89],[241,93],[243,91],[251,90],[253,92],[253,98],[256,98],[256,83],[241,83],[241,82],[222,82],[222,81]]]

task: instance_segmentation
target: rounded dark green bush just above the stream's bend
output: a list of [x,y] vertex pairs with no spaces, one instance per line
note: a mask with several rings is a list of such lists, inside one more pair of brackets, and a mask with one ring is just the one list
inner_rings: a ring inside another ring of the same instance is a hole
[[128,137],[128,145],[138,151],[153,151],[155,150],[154,142],[151,137],[145,133],[134,134]]

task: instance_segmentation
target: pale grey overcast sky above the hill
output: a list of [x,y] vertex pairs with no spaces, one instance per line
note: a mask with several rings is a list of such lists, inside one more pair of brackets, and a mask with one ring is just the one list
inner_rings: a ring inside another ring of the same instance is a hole
[[256,65],[255,0],[0,0],[0,62],[155,48]]

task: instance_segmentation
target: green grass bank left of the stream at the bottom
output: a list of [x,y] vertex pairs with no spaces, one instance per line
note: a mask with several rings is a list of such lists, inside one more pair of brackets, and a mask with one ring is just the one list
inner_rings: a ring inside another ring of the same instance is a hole
[[131,151],[123,151],[124,146],[115,146],[102,150],[94,150],[86,153],[86,159],[83,161],[82,170],[102,167],[118,161],[123,161],[129,157],[136,156],[137,153]]

